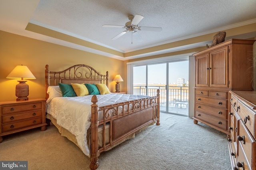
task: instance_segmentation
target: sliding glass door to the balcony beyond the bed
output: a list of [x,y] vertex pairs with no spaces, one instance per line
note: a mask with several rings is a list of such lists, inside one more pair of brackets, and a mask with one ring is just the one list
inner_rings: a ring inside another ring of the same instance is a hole
[[157,89],[161,111],[188,116],[188,61],[133,67],[133,94],[156,96]]

